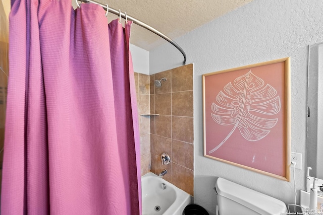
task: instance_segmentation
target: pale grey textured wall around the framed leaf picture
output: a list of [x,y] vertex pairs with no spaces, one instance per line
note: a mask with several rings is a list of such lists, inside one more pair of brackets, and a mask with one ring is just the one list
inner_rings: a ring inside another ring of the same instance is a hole
[[[305,161],[307,52],[308,44],[323,40],[322,11],[321,0],[255,0],[176,39],[187,54],[187,63],[194,63],[195,203],[215,210],[217,197],[212,187],[217,177],[285,203],[294,202],[293,176],[291,182],[286,182],[203,157],[202,75],[290,56],[291,148],[302,153]],[[149,57],[150,74],[178,67],[183,60],[171,44],[150,51]],[[302,170],[295,172],[298,190],[305,187],[305,169],[303,162]]]

